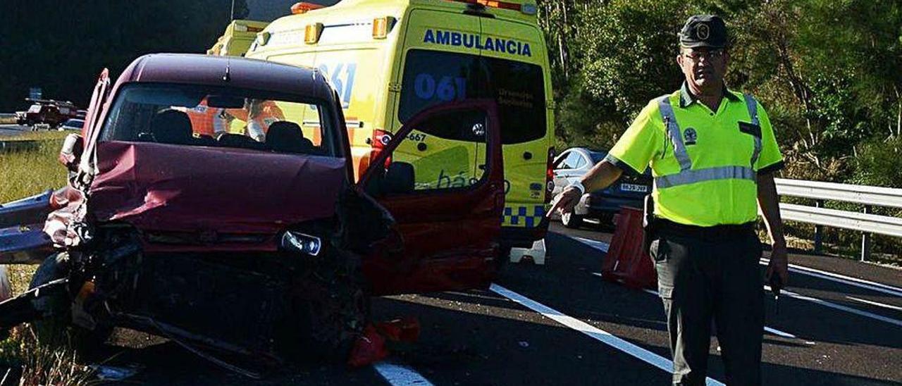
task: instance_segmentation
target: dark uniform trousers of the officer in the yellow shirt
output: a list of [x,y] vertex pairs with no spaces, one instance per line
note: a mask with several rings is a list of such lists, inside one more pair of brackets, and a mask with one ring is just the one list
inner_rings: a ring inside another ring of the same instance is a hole
[[764,289],[761,245],[751,225],[676,225],[655,233],[649,252],[664,301],[674,384],[702,385],[712,318],[728,385],[761,382]]

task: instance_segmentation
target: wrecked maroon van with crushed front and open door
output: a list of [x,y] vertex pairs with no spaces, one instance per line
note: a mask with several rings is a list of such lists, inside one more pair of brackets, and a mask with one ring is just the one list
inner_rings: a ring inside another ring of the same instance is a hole
[[[61,322],[84,347],[125,326],[207,353],[341,357],[370,296],[486,288],[502,261],[490,102],[413,117],[354,181],[339,97],[316,69],[154,54],[115,85],[106,74],[60,152],[69,186],[0,207],[0,263],[41,263],[0,303],[0,327]],[[428,175],[441,170],[404,144],[413,128],[469,152],[449,159],[467,163],[465,186]]]

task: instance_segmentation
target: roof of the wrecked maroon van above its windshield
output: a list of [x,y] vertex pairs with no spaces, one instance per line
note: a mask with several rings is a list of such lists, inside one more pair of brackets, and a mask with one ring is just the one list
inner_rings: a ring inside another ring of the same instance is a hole
[[[224,80],[228,69],[228,80]],[[305,97],[329,98],[331,88],[317,69],[272,61],[201,54],[144,55],[124,70],[116,87],[125,82],[182,83],[275,91]]]

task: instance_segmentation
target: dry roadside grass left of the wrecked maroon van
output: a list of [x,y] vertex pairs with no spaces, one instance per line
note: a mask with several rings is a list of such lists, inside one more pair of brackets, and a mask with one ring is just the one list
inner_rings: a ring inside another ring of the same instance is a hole
[[[41,145],[30,151],[0,153],[0,203],[29,197],[47,189],[66,184],[66,170],[56,161],[63,132],[23,133],[0,141],[40,141]],[[28,289],[36,266],[12,265],[8,267],[13,293]],[[10,337],[0,342],[0,378],[6,374],[4,384],[19,385],[83,385],[94,379],[94,373],[78,363],[69,345],[39,342],[32,326],[14,328]],[[19,381],[12,381],[18,378]]]

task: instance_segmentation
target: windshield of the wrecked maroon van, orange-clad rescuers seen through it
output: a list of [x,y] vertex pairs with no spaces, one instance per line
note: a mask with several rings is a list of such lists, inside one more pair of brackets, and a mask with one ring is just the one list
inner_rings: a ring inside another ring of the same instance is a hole
[[335,124],[325,101],[156,83],[126,85],[117,94],[100,141],[338,154]]

